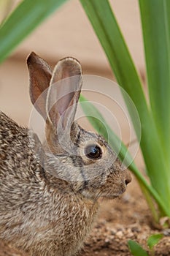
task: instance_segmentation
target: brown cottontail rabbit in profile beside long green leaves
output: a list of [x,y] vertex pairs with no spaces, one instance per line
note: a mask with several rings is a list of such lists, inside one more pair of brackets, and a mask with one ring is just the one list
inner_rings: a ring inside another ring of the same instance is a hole
[[[28,255],[75,255],[93,225],[98,197],[122,194],[131,176],[104,138],[74,121],[80,63],[62,59],[52,71],[35,53],[27,62],[31,102],[46,121],[46,143],[0,112],[0,239]],[[57,93],[51,89],[55,82]],[[66,88],[69,93],[59,99]]]

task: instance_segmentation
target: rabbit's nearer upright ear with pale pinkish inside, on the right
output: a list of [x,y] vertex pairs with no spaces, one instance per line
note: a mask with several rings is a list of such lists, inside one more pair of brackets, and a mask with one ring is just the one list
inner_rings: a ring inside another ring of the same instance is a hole
[[55,129],[58,122],[62,129],[69,129],[74,121],[77,102],[82,87],[82,68],[73,58],[58,62],[47,94],[47,113]]

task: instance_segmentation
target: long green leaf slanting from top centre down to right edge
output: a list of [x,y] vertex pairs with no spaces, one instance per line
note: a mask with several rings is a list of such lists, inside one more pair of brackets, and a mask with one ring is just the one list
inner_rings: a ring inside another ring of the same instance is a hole
[[[142,123],[141,148],[152,187],[158,192],[170,217],[169,160],[165,159],[162,140],[147,106],[139,75],[125,45],[109,1],[80,0],[107,55],[117,82],[125,89],[138,110]],[[128,106],[128,102],[126,102]],[[131,116],[131,108],[128,106]],[[135,120],[132,118],[136,134]],[[159,205],[159,203],[158,203]],[[165,214],[165,213],[162,213]]]

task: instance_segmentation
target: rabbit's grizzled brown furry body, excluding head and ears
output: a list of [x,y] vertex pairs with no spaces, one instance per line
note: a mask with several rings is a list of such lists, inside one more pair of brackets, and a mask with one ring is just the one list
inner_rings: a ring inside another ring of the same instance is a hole
[[28,129],[1,112],[0,124],[0,239],[35,256],[73,255],[98,204],[44,173],[28,146]]

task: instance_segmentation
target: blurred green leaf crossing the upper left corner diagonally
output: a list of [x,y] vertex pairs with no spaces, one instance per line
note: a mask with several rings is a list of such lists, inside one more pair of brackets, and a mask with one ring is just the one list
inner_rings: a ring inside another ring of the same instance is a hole
[[0,62],[66,0],[24,0],[0,27]]

